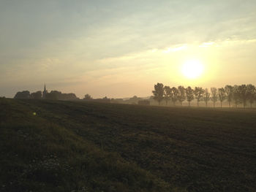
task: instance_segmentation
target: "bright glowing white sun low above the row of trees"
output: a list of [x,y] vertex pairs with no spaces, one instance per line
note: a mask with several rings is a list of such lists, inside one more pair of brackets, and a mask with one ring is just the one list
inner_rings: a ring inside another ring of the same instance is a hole
[[196,79],[203,74],[203,64],[197,60],[189,60],[182,66],[181,72],[188,79]]

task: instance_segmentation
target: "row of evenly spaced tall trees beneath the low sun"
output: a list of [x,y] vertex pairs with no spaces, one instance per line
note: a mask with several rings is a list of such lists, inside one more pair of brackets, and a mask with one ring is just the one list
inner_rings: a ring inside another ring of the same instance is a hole
[[201,88],[195,87],[194,89],[188,86],[178,86],[178,88],[163,85],[162,83],[157,83],[154,85],[153,98],[158,101],[160,105],[161,101],[165,101],[167,105],[169,101],[173,102],[173,105],[176,105],[179,102],[181,105],[184,101],[189,103],[189,106],[193,100],[197,101],[197,107],[199,106],[200,101],[204,101],[206,107],[208,107],[208,101],[212,101],[214,107],[216,106],[217,101],[222,107],[223,101],[227,101],[229,107],[231,104],[235,104],[238,107],[238,104],[243,104],[246,107],[246,104],[252,104],[256,101],[256,88],[255,85],[225,85],[224,88]]

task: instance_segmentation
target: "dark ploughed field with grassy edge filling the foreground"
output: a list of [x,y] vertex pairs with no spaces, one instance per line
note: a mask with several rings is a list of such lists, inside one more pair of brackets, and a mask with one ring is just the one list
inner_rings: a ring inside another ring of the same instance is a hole
[[0,99],[0,191],[256,191],[256,110]]

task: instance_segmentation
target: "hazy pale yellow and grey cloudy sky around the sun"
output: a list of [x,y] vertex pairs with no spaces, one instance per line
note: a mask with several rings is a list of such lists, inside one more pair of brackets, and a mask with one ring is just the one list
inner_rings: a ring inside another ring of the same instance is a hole
[[[0,96],[256,84],[255,0],[0,0]],[[189,79],[182,66],[203,65]]]

